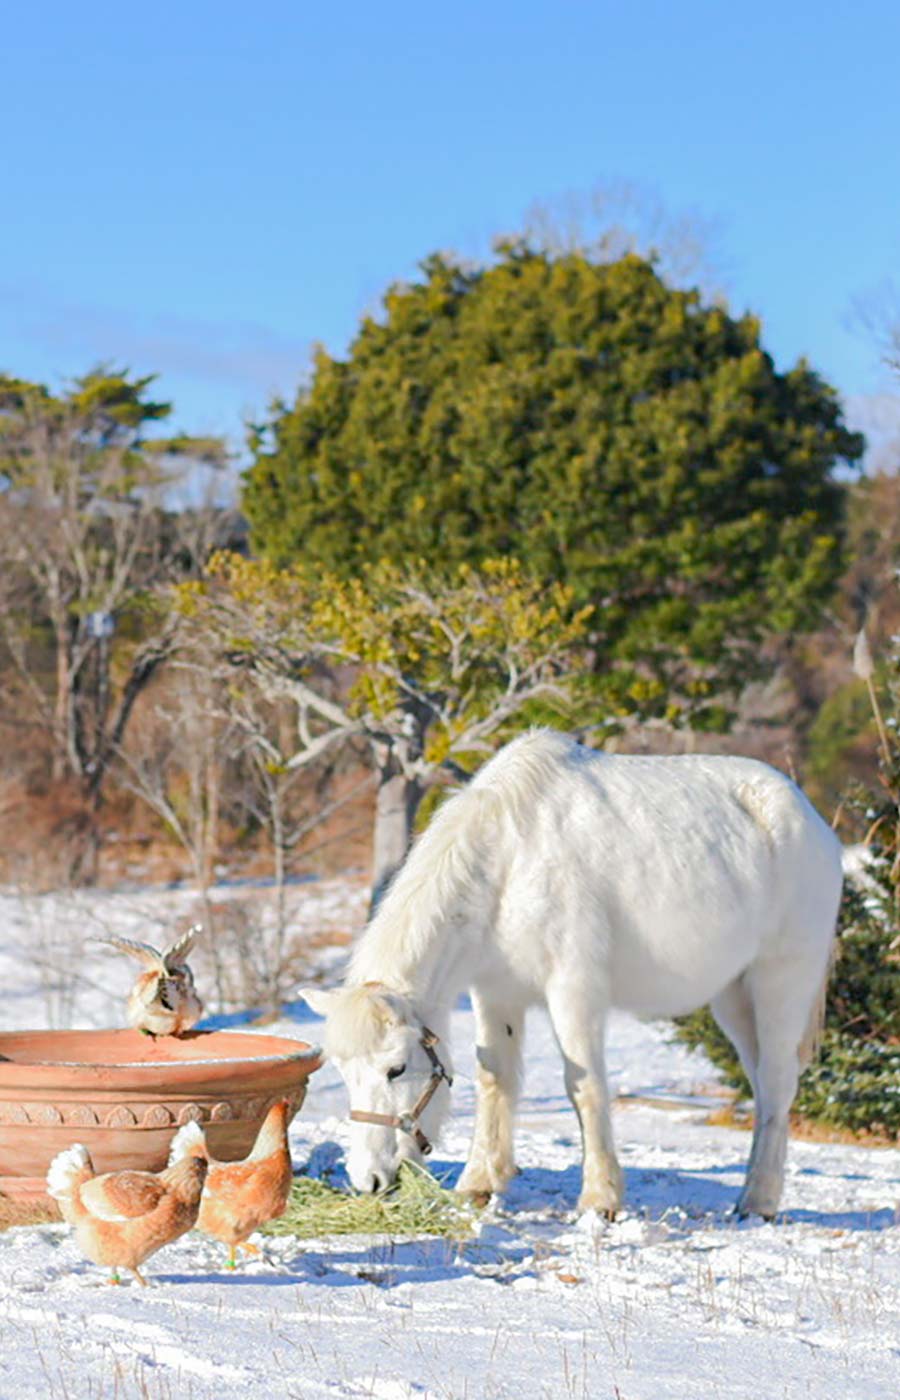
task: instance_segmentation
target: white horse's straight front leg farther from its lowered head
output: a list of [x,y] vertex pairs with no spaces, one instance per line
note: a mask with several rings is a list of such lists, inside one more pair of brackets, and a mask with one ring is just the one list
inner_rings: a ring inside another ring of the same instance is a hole
[[623,1182],[609,1116],[606,1016],[584,991],[572,983],[554,983],[547,988],[547,1009],[563,1051],[565,1092],[581,1126],[584,1170],[578,1210],[599,1211],[612,1219],[621,1207]]

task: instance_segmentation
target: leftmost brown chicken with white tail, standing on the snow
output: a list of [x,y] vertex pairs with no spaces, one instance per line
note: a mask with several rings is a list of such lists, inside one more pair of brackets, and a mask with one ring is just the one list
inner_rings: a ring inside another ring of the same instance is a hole
[[81,1253],[95,1264],[127,1268],[147,1282],[139,1266],[193,1228],[200,1210],[206,1162],[185,1158],[164,1172],[94,1175],[91,1154],[74,1142],[50,1162],[46,1183],[63,1219],[74,1226]]

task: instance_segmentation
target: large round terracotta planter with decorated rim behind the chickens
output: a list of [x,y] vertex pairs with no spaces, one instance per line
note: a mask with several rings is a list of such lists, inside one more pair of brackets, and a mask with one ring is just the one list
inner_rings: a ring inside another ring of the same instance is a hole
[[158,1172],[190,1119],[216,1156],[245,1156],[273,1100],[290,1099],[293,1117],[319,1064],[302,1040],[232,1030],[0,1035],[0,1194],[45,1196],[50,1161],[73,1142],[98,1172]]

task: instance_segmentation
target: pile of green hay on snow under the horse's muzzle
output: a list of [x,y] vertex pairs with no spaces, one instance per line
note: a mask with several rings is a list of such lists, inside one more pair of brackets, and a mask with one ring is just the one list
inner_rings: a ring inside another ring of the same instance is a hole
[[294,1179],[287,1211],[265,1228],[266,1235],[321,1239],[325,1235],[472,1233],[472,1210],[430,1172],[405,1162],[396,1186],[378,1196],[337,1191],[308,1176]]

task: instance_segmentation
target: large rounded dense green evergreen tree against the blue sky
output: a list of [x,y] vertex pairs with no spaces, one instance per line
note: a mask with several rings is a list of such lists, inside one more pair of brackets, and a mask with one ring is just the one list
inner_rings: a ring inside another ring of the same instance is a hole
[[505,244],[487,269],[428,259],[253,447],[245,508],[273,561],[514,554],[596,605],[612,710],[714,725],[760,638],[831,588],[833,468],[862,440],[809,365],[775,370],[753,316],[638,256]]

